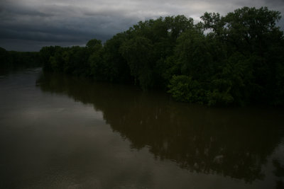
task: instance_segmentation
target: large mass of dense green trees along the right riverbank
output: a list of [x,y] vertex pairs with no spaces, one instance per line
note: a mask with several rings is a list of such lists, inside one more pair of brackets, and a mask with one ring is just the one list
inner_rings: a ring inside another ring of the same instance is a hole
[[161,88],[184,102],[283,105],[280,13],[244,7],[201,18],[141,21],[104,45],[94,39],[86,47],[43,47],[43,68]]

